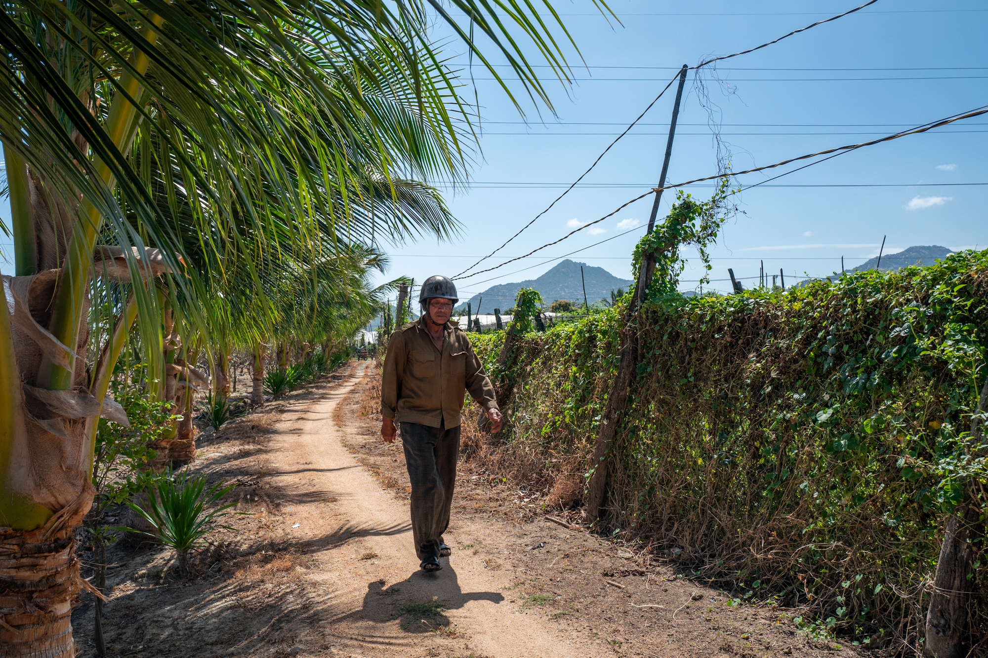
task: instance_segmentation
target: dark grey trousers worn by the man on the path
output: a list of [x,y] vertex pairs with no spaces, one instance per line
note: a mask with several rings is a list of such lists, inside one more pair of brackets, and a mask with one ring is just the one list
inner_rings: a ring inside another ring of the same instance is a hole
[[459,426],[452,429],[401,423],[401,444],[412,483],[412,538],[420,560],[439,557],[450,526]]

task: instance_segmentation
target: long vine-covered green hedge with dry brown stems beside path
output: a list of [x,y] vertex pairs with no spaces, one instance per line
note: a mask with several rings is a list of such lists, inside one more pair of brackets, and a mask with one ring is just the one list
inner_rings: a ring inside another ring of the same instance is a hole
[[[741,600],[808,606],[871,646],[915,645],[946,515],[964,482],[985,500],[984,458],[963,440],[985,380],[986,293],[988,252],[964,252],[784,292],[649,302],[608,456],[607,532],[677,549]],[[524,336],[495,373],[514,394],[486,458],[546,493],[589,469],[620,311]],[[503,340],[474,338],[488,370]]]

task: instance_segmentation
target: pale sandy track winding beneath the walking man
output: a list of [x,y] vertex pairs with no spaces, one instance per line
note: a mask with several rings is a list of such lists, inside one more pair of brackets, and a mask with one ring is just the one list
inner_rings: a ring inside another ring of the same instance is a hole
[[[507,576],[486,570],[482,556],[454,551],[438,574],[418,569],[407,503],[381,489],[345,449],[346,430],[332,420],[336,406],[368,368],[359,365],[344,385],[289,408],[287,431],[279,433],[269,452],[268,477],[284,492],[295,542],[315,548],[305,580],[321,599],[316,605],[328,612],[334,653],[614,655],[521,614],[509,603]],[[304,636],[299,640],[304,643]]]

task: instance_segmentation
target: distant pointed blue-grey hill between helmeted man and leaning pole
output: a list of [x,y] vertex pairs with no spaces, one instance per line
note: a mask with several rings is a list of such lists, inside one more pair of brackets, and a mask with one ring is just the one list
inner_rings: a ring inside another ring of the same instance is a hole
[[[499,284],[487,288],[483,292],[469,298],[470,309],[477,312],[477,302],[480,301],[480,311],[491,313],[495,308],[502,312],[515,305],[515,297],[522,288],[535,288],[542,295],[545,305],[556,299],[569,299],[583,303],[583,287],[580,284],[580,266],[583,266],[583,276],[587,283],[587,301],[594,303],[600,299],[611,299],[611,290],[624,288],[627,290],[634,282],[618,279],[604,268],[594,267],[586,263],[576,263],[569,259],[562,261],[538,279],[531,279],[517,284]],[[481,301],[481,297],[483,300]],[[466,302],[456,306],[457,310],[466,310]]]

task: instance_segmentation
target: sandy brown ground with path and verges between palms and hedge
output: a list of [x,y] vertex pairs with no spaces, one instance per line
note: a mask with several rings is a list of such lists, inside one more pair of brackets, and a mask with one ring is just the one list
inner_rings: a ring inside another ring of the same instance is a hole
[[[453,556],[418,570],[400,445],[376,434],[372,364],[239,420],[195,467],[236,480],[236,532],[183,580],[158,546],[111,551],[108,653],[128,656],[852,655],[460,468]],[[551,516],[551,515],[550,515]],[[231,518],[227,518],[229,520]],[[226,520],[224,520],[226,521]],[[73,616],[84,655],[92,608]]]

